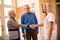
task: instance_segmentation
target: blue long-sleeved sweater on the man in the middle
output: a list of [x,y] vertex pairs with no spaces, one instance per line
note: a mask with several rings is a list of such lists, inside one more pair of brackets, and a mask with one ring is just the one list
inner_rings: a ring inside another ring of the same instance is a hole
[[[37,22],[37,18],[35,16],[34,13],[24,13],[22,16],[21,16],[21,24],[26,24],[28,25],[25,30],[26,32],[34,32],[36,30],[38,30],[38,27],[36,27],[35,29],[31,29],[29,27],[29,25],[31,24],[38,24]],[[22,27],[22,33],[24,33],[24,28]]]

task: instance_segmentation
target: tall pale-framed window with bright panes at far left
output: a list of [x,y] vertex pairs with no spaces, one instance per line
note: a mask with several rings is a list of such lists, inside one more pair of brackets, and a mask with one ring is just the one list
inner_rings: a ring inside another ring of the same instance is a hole
[[[8,27],[7,27],[8,12],[14,8],[13,5],[14,5],[13,0],[0,0],[0,17],[2,17],[2,19],[4,19],[4,20],[0,21],[0,36],[3,36],[2,32],[5,32],[4,34],[6,36],[4,36],[4,39],[7,39],[7,40],[9,39],[9,32],[8,32]],[[4,23],[4,25],[3,25],[3,23]],[[4,31],[2,31],[1,25],[5,26],[5,27],[3,27]]]

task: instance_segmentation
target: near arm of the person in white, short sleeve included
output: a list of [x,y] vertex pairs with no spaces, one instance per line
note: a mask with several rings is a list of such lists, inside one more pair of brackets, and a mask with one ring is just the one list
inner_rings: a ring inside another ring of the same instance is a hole
[[55,22],[55,17],[53,15],[50,15],[48,18],[48,27],[49,27],[48,28],[48,40],[51,40],[54,22]]

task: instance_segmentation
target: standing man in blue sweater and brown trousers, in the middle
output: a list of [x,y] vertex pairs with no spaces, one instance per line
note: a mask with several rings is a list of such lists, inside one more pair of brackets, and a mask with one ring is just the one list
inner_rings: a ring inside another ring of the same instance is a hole
[[[21,24],[26,24],[28,26],[25,29],[22,27],[23,36],[26,36],[26,40],[31,40],[31,37],[33,40],[38,40],[38,27],[34,28],[34,26],[37,26],[36,24],[38,24],[36,15],[30,12],[29,5],[25,5],[24,10],[25,13],[21,16]],[[33,28],[30,28],[29,25]],[[24,30],[26,30],[26,34],[24,33]]]

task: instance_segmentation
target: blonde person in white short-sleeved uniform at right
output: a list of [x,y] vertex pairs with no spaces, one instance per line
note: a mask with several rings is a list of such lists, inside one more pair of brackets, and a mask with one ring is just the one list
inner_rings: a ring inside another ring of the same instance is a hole
[[46,13],[46,17],[44,19],[44,40],[56,40],[56,23],[55,16],[52,12],[52,5],[50,3],[46,3],[43,5],[43,13]]

